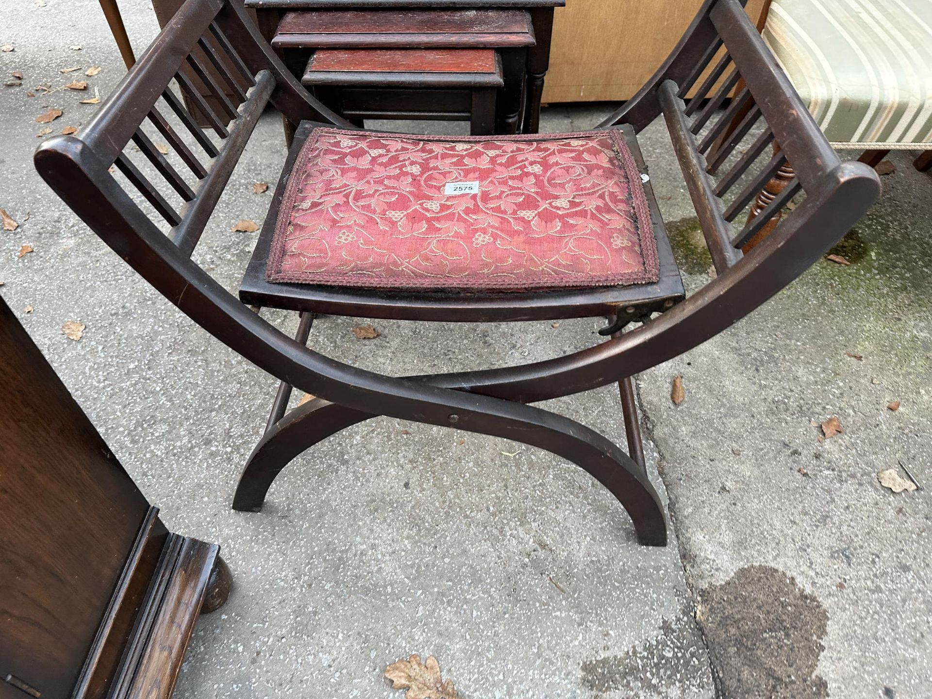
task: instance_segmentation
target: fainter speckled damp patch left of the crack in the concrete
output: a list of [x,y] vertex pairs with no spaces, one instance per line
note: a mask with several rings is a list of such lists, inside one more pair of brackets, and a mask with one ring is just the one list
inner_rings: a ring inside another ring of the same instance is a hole
[[664,620],[661,633],[621,655],[583,663],[583,685],[597,692],[620,692],[626,698],[665,695],[672,688],[698,691],[707,681],[703,642],[688,617],[681,624]]

